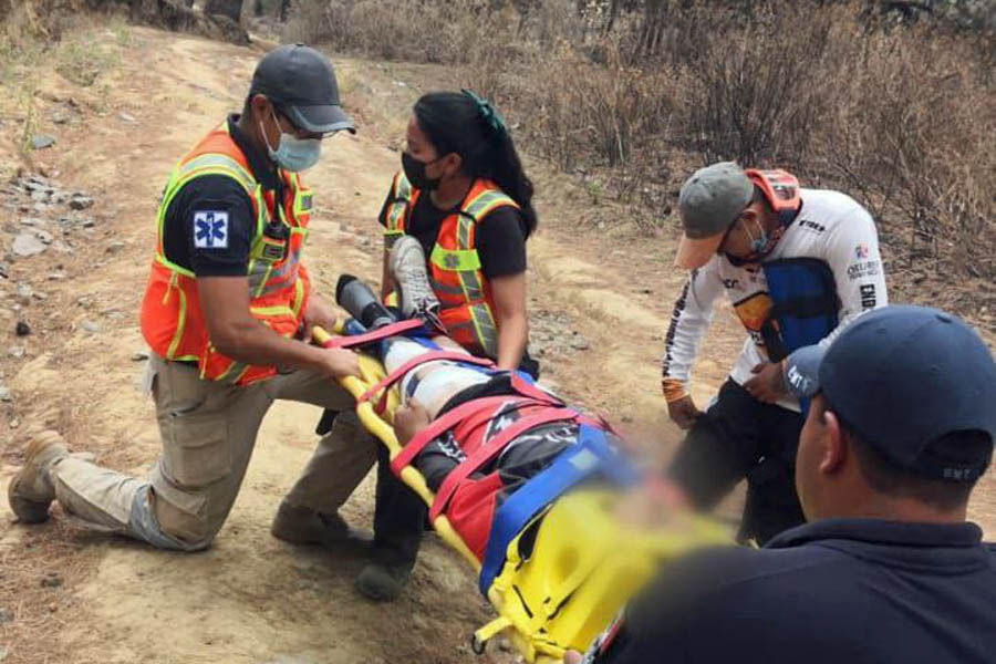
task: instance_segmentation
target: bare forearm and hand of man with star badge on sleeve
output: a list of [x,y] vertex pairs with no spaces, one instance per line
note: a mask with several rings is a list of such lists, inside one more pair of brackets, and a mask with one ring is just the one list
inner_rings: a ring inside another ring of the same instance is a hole
[[245,277],[203,277],[197,280],[197,294],[211,342],[232,360],[318,371],[334,377],[360,375],[354,353],[284,339],[253,319]]

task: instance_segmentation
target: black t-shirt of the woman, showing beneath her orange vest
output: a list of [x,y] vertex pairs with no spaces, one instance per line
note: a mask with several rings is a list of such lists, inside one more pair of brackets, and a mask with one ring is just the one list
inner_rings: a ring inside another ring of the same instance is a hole
[[[387,225],[388,195],[381,208],[378,219],[381,226]],[[414,236],[425,251],[426,258],[432,256],[436,236],[443,219],[459,209],[440,210],[433,205],[428,195],[421,195],[415,201],[415,209],[405,225],[405,232]],[[511,206],[491,210],[477,221],[474,243],[480,257],[480,271],[485,279],[509,277],[526,271],[526,234],[529,226],[517,208]]]

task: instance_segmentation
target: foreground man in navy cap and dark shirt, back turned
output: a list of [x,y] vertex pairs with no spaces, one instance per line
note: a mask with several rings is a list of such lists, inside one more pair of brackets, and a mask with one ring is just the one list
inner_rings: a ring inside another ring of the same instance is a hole
[[953,315],[888,307],[788,366],[813,395],[796,463],[809,523],[670,566],[585,661],[992,662],[996,548],[965,521],[996,437],[989,351]]

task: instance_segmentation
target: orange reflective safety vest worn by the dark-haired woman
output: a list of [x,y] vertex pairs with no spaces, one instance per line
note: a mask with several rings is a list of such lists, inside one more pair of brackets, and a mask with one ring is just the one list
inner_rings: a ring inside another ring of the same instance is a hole
[[[394,176],[384,226],[387,249],[405,235],[418,189],[403,172]],[[498,357],[498,328],[491,287],[480,270],[480,256],[474,243],[478,221],[499,207],[518,204],[498,186],[478,179],[470,187],[458,210],[443,219],[436,243],[428,260],[429,279],[439,298],[439,319],[446,333],[461,346],[491,359]]]

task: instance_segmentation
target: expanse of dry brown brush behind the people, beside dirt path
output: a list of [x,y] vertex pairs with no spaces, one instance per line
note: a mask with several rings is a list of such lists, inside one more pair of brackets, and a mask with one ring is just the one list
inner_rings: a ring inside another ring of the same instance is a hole
[[495,98],[520,146],[580,173],[593,204],[619,201],[644,230],[674,228],[677,186],[716,159],[848,191],[876,217],[901,299],[943,291],[996,329],[996,35],[984,11],[656,4],[666,20],[654,30],[622,12],[606,33],[594,0],[307,0],[288,38],[452,65],[454,86]]

